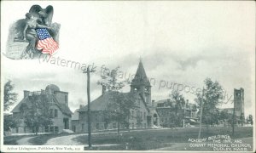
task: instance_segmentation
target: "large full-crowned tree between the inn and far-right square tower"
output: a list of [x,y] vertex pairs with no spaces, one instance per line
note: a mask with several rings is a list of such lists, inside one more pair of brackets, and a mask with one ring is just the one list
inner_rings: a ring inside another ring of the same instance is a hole
[[222,86],[217,82],[212,82],[210,78],[205,81],[206,89],[204,89],[204,97],[201,93],[197,94],[195,102],[201,108],[202,104],[202,122],[208,125],[218,124],[217,106],[223,104],[224,94]]

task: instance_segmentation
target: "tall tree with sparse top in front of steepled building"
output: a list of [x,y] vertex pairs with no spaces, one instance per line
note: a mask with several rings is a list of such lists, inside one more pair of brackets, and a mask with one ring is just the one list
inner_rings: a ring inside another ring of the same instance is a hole
[[[107,72],[106,72],[107,71]],[[127,95],[119,93],[119,90],[125,87],[126,81],[118,82],[117,75],[119,67],[109,71],[105,68],[105,72],[101,75],[102,80],[98,84],[102,85],[110,92],[109,103],[104,111],[106,124],[109,122],[118,123],[118,133],[120,123],[129,128],[129,117],[131,116],[131,109],[137,107],[135,95]]]

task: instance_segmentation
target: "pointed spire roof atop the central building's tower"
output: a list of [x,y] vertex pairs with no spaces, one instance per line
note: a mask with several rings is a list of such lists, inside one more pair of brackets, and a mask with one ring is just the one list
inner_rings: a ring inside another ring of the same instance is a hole
[[[146,75],[146,71],[144,69],[144,66],[143,66],[143,61],[142,59],[140,59],[140,62],[139,62],[139,65],[137,67],[137,72],[136,72],[136,75],[134,77],[134,79],[132,80],[131,82],[132,84],[147,84],[148,85],[148,77]],[[150,85],[150,83],[149,83]]]

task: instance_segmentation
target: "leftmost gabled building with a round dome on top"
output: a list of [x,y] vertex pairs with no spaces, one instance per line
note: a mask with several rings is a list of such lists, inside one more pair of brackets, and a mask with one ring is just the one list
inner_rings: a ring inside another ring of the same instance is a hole
[[44,99],[46,108],[49,110],[49,116],[52,124],[44,127],[39,127],[39,133],[61,133],[63,129],[71,129],[72,111],[68,107],[68,93],[63,92],[54,84],[48,85],[45,90],[41,91],[24,91],[24,97],[18,105],[15,106],[13,117],[19,119],[18,127],[12,129],[12,133],[34,133],[31,127],[28,127],[24,122],[25,111],[31,111],[34,104],[33,98]]

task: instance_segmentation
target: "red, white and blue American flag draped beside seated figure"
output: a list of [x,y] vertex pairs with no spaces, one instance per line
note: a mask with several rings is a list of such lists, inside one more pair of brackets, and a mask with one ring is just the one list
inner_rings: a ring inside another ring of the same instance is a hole
[[36,29],[36,31],[39,37],[37,48],[39,50],[43,49],[43,54],[54,54],[59,48],[58,43],[49,35],[46,28]]

